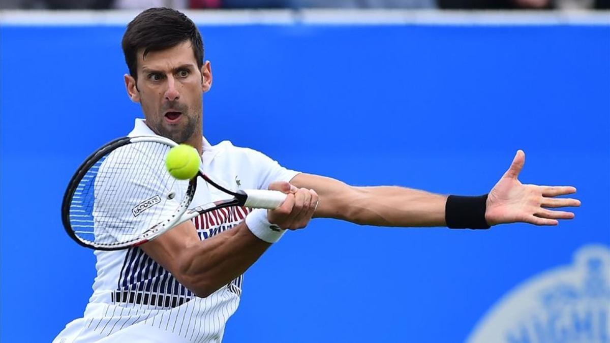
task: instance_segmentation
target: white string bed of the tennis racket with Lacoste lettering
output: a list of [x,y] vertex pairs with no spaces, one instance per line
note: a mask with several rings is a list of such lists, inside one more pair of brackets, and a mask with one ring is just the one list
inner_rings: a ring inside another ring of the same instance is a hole
[[158,142],[130,143],[91,165],[70,204],[74,234],[97,245],[125,244],[171,216],[186,196],[188,182],[165,170],[169,150]]

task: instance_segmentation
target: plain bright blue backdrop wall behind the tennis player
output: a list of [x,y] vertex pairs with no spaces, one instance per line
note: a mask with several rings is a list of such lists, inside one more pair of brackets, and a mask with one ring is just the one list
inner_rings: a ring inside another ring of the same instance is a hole
[[[225,342],[457,342],[506,291],[610,244],[609,26],[203,26],[212,143],[355,185],[487,192],[574,185],[556,227],[315,220],[247,273]],[[124,27],[1,26],[1,334],[51,341],[82,315],[93,253],[60,223],[66,182],[132,128]],[[260,327],[260,318],[273,319]]]

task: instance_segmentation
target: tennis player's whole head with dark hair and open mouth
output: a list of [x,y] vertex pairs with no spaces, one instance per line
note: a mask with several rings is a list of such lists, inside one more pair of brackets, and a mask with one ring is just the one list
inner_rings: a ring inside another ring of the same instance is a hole
[[201,140],[202,97],[212,71],[193,21],[172,9],[145,10],[127,25],[123,53],[127,93],[152,131],[178,143]]

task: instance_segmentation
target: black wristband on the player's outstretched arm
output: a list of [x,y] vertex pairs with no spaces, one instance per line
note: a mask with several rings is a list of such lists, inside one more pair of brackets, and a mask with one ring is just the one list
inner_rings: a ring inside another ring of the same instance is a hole
[[445,223],[450,229],[489,229],[485,220],[487,194],[479,197],[450,195],[445,203]]

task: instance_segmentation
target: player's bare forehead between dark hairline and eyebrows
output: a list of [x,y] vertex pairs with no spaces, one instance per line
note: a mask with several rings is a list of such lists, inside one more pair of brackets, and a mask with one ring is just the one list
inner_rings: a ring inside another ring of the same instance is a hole
[[185,64],[197,65],[190,42],[182,42],[165,50],[149,51],[146,56],[144,56],[144,49],[138,51],[138,69],[140,70],[164,70]]

